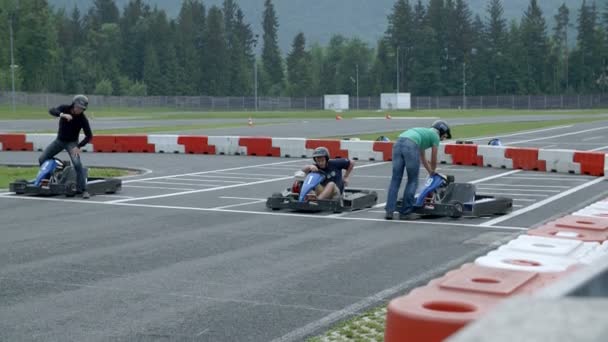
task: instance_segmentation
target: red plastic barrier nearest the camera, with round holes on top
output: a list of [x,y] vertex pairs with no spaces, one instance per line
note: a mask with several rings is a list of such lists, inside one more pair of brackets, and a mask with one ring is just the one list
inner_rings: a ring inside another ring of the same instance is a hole
[[465,264],[392,300],[384,341],[443,341],[507,297],[534,292],[572,270],[536,273]]

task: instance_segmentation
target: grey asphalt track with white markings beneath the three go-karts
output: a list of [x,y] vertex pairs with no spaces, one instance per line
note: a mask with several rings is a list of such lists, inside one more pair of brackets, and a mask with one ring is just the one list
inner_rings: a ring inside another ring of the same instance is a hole
[[[501,139],[602,150],[606,129]],[[2,163],[37,156],[0,152]],[[149,173],[90,200],[0,194],[2,341],[301,341],[608,193],[597,177],[443,165],[479,193],[512,197],[513,213],[385,221],[390,163],[358,161],[353,173],[353,187],[378,191],[377,208],[295,214],[264,201],[305,159],[83,158]]]

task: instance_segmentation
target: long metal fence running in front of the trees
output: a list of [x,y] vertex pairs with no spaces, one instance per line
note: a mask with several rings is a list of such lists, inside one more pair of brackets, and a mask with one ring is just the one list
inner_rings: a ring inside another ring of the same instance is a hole
[[[52,107],[70,103],[71,95],[23,93],[14,94],[17,106]],[[244,96],[89,96],[94,108],[165,107],[204,111],[279,111],[323,110],[323,97],[258,97]],[[11,105],[13,94],[0,92],[0,105]],[[588,109],[608,108],[608,95],[500,95],[500,96],[412,96],[412,109]],[[378,110],[380,97],[349,98],[350,110]]]

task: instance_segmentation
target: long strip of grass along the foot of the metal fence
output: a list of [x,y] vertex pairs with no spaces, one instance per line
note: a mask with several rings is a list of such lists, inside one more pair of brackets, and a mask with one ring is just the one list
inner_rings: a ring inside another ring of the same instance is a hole
[[[10,105],[0,106],[0,120],[2,119],[48,119],[46,107],[18,106],[13,112]],[[437,109],[437,110],[360,110],[345,111],[340,115],[348,120],[357,117],[384,117],[390,113],[393,117],[480,117],[480,116],[501,116],[501,115],[550,115],[550,114],[569,114],[569,115],[594,115],[608,113],[608,109],[588,109],[588,110],[510,110],[510,109]],[[156,119],[156,120],[176,120],[176,119],[245,119],[252,117],[261,118],[327,118],[333,119],[336,113],[333,111],[240,111],[240,112],[202,112],[193,110],[183,110],[176,108],[103,108],[96,109],[90,107],[87,115],[93,118],[112,118],[124,117],[130,119]]]

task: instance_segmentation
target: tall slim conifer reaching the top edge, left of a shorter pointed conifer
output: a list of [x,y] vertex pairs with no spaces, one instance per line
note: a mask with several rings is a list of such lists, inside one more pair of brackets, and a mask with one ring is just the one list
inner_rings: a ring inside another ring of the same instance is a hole
[[283,60],[279,51],[277,30],[279,22],[271,0],[264,2],[262,27],[264,28],[264,46],[262,63],[264,66],[264,90],[268,95],[280,95],[283,90]]

